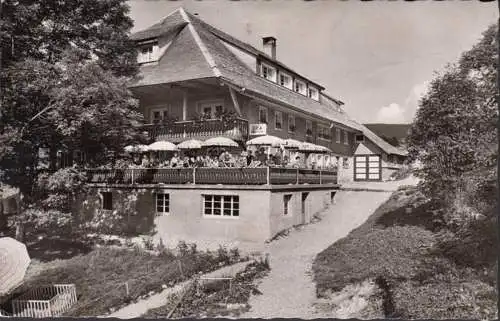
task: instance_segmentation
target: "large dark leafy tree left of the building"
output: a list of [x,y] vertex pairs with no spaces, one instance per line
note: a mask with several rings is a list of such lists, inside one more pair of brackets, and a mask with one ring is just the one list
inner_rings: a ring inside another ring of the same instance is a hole
[[[125,0],[3,4],[0,179],[20,189],[25,206],[67,210],[83,187],[82,167],[58,171],[58,150],[84,152],[80,165],[99,166],[145,139],[127,89],[138,71],[127,13]],[[48,170],[38,167],[41,148]]]

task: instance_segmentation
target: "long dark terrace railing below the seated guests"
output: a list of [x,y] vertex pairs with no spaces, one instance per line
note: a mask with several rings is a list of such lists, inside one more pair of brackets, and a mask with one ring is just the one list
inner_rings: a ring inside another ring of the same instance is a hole
[[89,183],[107,184],[336,184],[336,170],[296,168],[127,168],[89,169]]

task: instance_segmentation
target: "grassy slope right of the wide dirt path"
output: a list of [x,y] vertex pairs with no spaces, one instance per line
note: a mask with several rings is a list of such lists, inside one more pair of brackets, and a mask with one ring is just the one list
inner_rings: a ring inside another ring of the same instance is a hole
[[452,240],[454,255],[442,249],[443,239],[451,239],[444,230],[435,204],[416,188],[398,190],[363,225],[317,255],[318,297],[372,280],[386,317],[495,319],[495,282],[484,276],[484,266],[461,262],[460,240]]

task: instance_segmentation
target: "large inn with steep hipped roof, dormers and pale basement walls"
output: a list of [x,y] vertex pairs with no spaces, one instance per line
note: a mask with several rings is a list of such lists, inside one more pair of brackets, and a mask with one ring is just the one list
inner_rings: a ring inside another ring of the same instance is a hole
[[[360,166],[366,166],[365,179],[380,180],[389,157],[404,156],[350,119],[343,103],[321,84],[281,63],[273,37],[263,38],[258,50],[180,8],[132,39],[141,72],[130,88],[152,141],[223,136],[244,146],[259,135],[292,138],[327,147],[331,153],[322,157],[340,164],[339,170],[130,170],[119,178],[94,172],[85,215],[116,211],[128,191],[140,188],[139,214],[130,218],[138,232],[154,223],[160,235],[262,241],[309,222],[328,206],[338,188],[337,174],[356,179],[354,155],[360,143],[367,146],[360,156],[371,153],[378,163],[370,167],[371,158],[360,162],[358,179]],[[232,120],[220,115],[232,115]]]

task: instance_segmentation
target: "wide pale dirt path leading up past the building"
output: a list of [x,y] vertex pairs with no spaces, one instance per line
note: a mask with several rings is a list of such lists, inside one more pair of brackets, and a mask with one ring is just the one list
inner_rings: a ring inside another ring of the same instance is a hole
[[361,225],[390,192],[339,191],[336,204],[315,224],[292,231],[266,246],[271,272],[259,285],[262,295],[250,299],[242,318],[320,318],[314,312],[315,285],[311,266],[317,253]]

